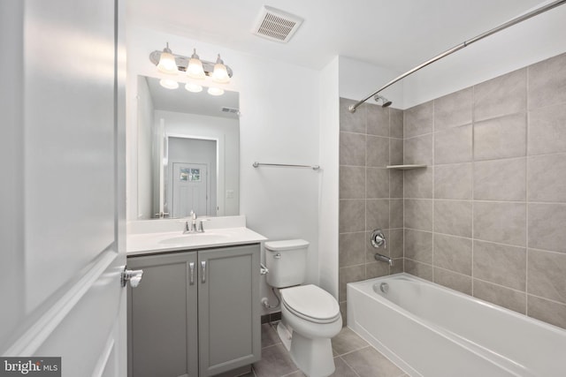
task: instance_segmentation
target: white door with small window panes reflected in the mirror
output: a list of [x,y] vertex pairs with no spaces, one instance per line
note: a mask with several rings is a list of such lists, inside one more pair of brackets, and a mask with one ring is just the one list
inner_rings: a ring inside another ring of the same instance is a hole
[[174,217],[210,215],[208,169],[203,163],[173,162],[172,212]]

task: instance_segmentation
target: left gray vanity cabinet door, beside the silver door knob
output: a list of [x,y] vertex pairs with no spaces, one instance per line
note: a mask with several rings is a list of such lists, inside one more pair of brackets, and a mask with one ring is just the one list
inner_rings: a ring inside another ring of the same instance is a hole
[[128,258],[128,268],[143,269],[128,288],[129,377],[198,375],[196,262],[196,252]]

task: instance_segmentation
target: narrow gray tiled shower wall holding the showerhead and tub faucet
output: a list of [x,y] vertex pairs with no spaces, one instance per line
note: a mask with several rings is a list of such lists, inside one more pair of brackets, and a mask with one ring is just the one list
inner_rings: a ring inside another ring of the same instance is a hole
[[[386,170],[403,159],[402,110],[340,99],[339,301],[346,325],[346,283],[402,271],[403,176]],[[373,258],[372,230],[386,234],[379,253],[394,259],[390,268]]]

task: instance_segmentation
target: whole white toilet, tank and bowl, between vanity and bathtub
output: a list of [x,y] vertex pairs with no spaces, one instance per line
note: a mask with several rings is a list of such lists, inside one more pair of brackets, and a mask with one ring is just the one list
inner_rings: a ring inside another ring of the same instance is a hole
[[334,373],[331,338],[342,328],[340,306],[327,291],[304,283],[309,242],[265,243],[267,283],[279,288],[281,321],[277,332],[294,364],[309,377]]

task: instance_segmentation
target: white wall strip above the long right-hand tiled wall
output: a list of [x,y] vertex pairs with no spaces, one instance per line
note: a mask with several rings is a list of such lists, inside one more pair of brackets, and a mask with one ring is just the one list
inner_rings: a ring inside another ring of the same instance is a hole
[[[475,35],[470,35],[470,38]],[[451,48],[453,46],[447,46]],[[477,41],[402,81],[408,109],[566,51],[566,5]],[[442,51],[432,53],[431,57]]]

